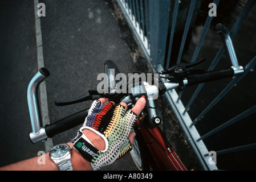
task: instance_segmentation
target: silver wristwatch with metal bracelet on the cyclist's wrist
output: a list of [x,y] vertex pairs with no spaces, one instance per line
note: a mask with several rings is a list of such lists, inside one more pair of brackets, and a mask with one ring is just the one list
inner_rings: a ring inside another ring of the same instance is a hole
[[66,143],[58,144],[51,148],[50,158],[59,167],[60,171],[73,171],[71,164],[71,151],[72,147]]

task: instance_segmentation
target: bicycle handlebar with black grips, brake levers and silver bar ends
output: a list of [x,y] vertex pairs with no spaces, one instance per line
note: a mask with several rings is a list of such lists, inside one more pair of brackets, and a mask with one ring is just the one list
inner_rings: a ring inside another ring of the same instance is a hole
[[[162,94],[166,91],[169,91],[171,89],[178,88],[181,85],[195,85],[200,84],[203,82],[209,82],[214,80],[220,80],[221,78],[226,77],[233,77],[235,75],[239,75],[243,73],[243,67],[239,66],[237,57],[235,55],[234,47],[232,44],[232,41],[230,39],[229,33],[227,32],[226,28],[222,24],[218,24],[216,26],[216,31],[218,34],[220,34],[222,41],[224,42],[224,46],[227,50],[227,53],[229,54],[229,57],[231,59],[231,64],[233,65],[229,69],[224,69],[221,71],[210,71],[210,72],[200,72],[197,71],[197,74],[191,74],[193,72],[188,72],[188,67],[194,66],[194,64],[180,64],[177,65],[174,69],[168,69],[165,71],[165,73],[172,72],[175,75],[178,75],[179,73],[189,73],[191,75],[185,75],[185,77],[177,77],[178,79],[169,79],[174,80],[172,82],[166,81],[164,82],[165,89],[160,90],[160,88],[155,85],[147,85],[145,86],[146,90],[146,96],[148,98],[148,102],[151,104],[150,107],[148,107],[148,114],[151,115],[151,118],[154,119],[155,117],[155,104],[152,100],[152,96],[155,94]],[[202,59],[198,61],[196,64],[201,63],[205,59]],[[194,70],[196,71],[196,70]],[[164,71],[161,72],[162,75],[164,74]],[[199,74],[198,74],[199,73]],[[50,125],[46,125],[44,127],[40,127],[40,119],[39,119],[39,110],[38,110],[38,101],[36,97],[36,91],[38,88],[38,85],[40,82],[42,82],[46,77],[50,75],[50,72],[47,71],[46,68],[40,68],[38,73],[35,74],[35,76],[31,79],[28,89],[27,89],[27,101],[29,105],[29,111],[30,111],[30,119],[31,119],[31,125],[32,125],[32,132],[30,133],[30,139],[32,143],[36,143],[42,140],[45,140],[47,138],[51,138],[56,134],[62,133],[63,131],[66,131],[68,129],[71,129],[75,126],[78,126],[84,122],[84,119],[87,117],[88,109],[80,111],[78,113],[72,114],[66,118],[60,119],[59,121],[56,121],[54,123],[51,123]],[[182,74],[180,74],[182,75]],[[183,76],[183,75],[182,75]],[[159,77],[161,80],[161,78]],[[162,83],[162,82],[161,82]],[[144,84],[144,83],[143,83]],[[161,85],[162,86],[162,85]],[[109,97],[111,95],[109,94]],[[113,96],[113,95],[112,95]],[[125,97],[124,97],[125,96]],[[81,101],[87,101],[87,100],[95,100],[97,97],[108,97],[108,94],[98,94],[97,90],[89,90],[88,94],[85,94],[83,97],[77,98],[76,100],[71,101],[64,101],[64,102],[55,102],[58,106],[63,106],[67,104],[75,104]],[[134,97],[131,97],[131,94],[121,94],[120,96],[115,97],[117,100],[120,100],[122,102],[125,102],[127,105],[129,104],[135,104]]]

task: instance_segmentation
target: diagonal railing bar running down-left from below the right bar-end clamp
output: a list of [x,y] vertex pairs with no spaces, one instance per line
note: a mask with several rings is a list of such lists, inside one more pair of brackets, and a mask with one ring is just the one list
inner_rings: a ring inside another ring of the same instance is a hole
[[242,75],[238,75],[237,77],[235,77],[230,83],[229,85],[227,85],[220,94],[218,94],[218,96],[216,98],[214,98],[214,100],[206,107],[205,110],[203,110],[201,112],[200,115],[198,115],[198,117],[192,122],[193,126],[194,124],[196,124],[206,113],[208,113],[208,111],[210,109],[212,109],[212,107],[214,105],[216,105],[218,103],[218,101],[221,100],[222,97],[224,97],[234,86],[235,84],[237,84],[245,75],[247,75],[247,73],[250,72],[250,70],[252,68],[254,68],[256,66],[256,56],[245,66],[245,72]]

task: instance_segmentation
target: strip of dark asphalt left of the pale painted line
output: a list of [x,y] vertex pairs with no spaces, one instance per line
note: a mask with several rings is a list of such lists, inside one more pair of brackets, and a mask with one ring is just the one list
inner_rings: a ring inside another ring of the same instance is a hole
[[27,85],[37,70],[33,1],[0,2],[0,166],[36,156],[31,144]]

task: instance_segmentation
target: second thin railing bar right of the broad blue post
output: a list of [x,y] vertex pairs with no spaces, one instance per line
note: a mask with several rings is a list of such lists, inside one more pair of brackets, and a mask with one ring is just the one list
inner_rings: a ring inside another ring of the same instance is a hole
[[190,2],[190,6],[189,6],[188,17],[186,18],[186,24],[185,24],[185,28],[184,28],[184,32],[183,32],[183,36],[182,36],[182,40],[181,40],[180,52],[178,52],[177,64],[179,64],[180,60],[181,60],[182,52],[183,52],[185,42],[186,42],[186,36],[188,35],[189,26],[190,26],[190,22],[192,19],[195,5],[196,5],[196,0],[192,0]]

